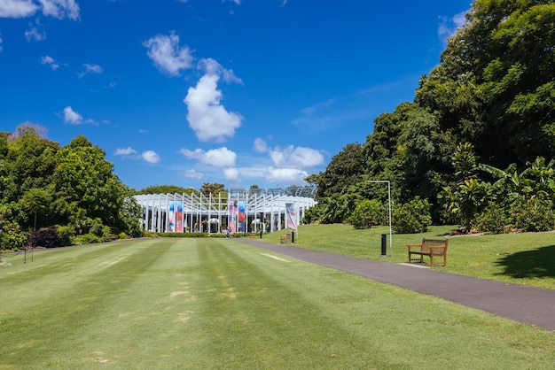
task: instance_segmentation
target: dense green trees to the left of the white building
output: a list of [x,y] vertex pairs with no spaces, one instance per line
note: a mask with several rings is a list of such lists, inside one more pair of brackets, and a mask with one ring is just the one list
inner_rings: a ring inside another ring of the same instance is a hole
[[0,135],[0,248],[26,243],[18,233],[54,225],[99,240],[138,235],[137,207],[104,150],[84,136],[60,148],[44,133],[27,123]]

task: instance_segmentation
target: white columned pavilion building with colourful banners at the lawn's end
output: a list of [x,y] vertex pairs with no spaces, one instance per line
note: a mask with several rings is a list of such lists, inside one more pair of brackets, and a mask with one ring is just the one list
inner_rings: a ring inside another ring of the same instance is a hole
[[316,204],[316,187],[231,189],[227,197],[210,194],[135,196],[143,208],[141,225],[152,232],[256,233],[296,228]]

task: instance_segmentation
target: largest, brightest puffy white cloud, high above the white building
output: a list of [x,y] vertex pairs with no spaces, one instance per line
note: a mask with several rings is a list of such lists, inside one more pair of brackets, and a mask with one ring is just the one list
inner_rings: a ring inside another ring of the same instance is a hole
[[226,137],[235,135],[235,130],[241,126],[243,117],[235,112],[227,112],[220,104],[222,91],[217,89],[219,79],[216,74],[205,74],[196,88],[189,88],[184,98],[189,110],[189,127],[201,142],[223,142]]

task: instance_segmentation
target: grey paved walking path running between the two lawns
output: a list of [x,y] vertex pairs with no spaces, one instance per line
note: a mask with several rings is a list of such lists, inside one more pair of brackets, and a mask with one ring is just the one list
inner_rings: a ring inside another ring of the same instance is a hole
[[507,319],[555,330],[555,290],[449,274],[417,266],[310,251],[256,240],[238,239],[238,242],[418,293],[441,297]]

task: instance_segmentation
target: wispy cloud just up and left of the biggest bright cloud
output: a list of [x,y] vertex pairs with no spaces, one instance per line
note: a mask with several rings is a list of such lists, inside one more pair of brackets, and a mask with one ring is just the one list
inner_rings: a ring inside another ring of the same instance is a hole
[[146,55],[162,72],[178,76],[179,71],[192,67],[191,50],[187,46],[179,46],[179,36],[173,32],[167,35],[156,35],[145,42],[143,46],[148,49]]

